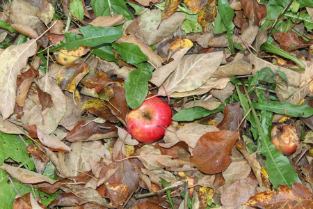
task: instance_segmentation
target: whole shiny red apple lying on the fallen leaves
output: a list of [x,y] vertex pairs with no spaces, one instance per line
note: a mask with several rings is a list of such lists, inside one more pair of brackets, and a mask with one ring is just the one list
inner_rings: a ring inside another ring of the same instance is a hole
[[[148,97],[149,98],[149,97]],[[140,107],[129,111],[126,130],[137,141],[152,143],[164,137],[172,122],[172,109],[161,98],[147,99]]]

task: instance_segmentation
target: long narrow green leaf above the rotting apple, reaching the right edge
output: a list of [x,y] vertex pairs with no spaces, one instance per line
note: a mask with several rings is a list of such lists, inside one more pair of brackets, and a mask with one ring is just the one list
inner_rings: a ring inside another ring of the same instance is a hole
[[276,114],[285,114],[292,117],[307,118],[313,115],[313,107],[303,104],[300,106],[288,102],[257,102],[253,104],[255,109],[267,110]]

